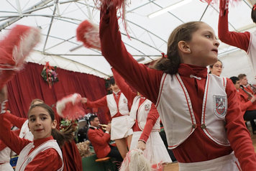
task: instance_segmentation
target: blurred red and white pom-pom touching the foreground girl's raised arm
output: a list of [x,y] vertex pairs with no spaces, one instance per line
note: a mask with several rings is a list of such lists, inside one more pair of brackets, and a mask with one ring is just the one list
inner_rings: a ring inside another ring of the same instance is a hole
[[89,22],[83,21],[76,29],[76,38],[83,42],[83,45],[88,48],[101,50],[101,40],[99,39],[99,26]]

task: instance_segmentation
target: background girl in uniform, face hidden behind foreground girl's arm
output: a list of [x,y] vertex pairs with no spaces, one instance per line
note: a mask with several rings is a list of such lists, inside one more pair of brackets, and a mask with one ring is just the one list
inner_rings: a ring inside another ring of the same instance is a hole
[[144,156],[152,164],[172,162],[159,134],[160,117],[157,108],[147,98],[134,93],[116,70],[112,69],[112,71],[114,80],[124,96],[128,101],[133,102],[129,114],[129,128],[133,131],[130,150],[137,147],[144,150]]

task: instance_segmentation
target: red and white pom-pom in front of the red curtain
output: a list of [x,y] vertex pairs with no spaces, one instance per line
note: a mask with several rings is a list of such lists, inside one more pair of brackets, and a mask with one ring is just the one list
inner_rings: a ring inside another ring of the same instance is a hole
[[81,99],[82,97],[78,93],[73,93],[62,98],[56,103],[58,115],[70,120],[84,116],[85,111],[83,110]]

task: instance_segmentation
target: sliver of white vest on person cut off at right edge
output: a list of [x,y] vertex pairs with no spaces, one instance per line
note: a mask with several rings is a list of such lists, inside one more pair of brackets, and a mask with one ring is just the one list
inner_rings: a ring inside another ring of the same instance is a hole
[[255,68],[256,68],[256,31],[250,33],[250,43],[247,50],[247,54],[250,57],[250,61],[252,63],[252,68],[254,70],[254,73],[256,74]]

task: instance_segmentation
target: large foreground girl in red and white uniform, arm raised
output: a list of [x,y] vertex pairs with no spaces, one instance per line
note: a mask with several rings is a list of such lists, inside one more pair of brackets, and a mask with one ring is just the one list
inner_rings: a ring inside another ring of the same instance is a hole
[[155,103],[180,170],[256,170],[232,81],[207,74],[219,47],[208,24],[188,22],[174,29],[157,70],[138,64],[127,52],[113,3],[101,6],[99,34],[109,64]]

